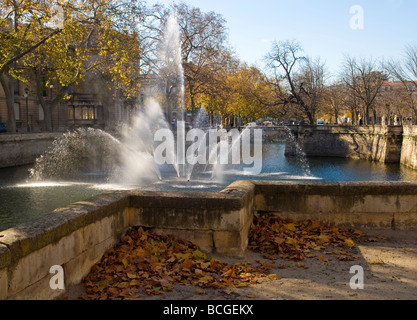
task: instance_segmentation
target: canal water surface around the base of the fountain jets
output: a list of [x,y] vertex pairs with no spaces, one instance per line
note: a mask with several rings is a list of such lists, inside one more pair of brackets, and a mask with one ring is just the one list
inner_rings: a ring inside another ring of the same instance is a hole
[[243,174],[241,168],[226,168],[221,179],[213,180],[209,170],[196,168],[190,181],[162,168],[162,180],[144,185],[112,184],[105,176],[87,173],[73,181],[30,181],[22,166],[0,169],[0,231],[31,221],[54,209],[112,190],[217,192],[236,180],[279,181],[417,181],[417,170],[397,164],[374,163],[344,158],[288,158],[285,144],[266,144],[262,172]]

